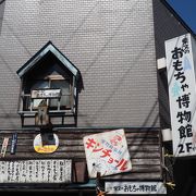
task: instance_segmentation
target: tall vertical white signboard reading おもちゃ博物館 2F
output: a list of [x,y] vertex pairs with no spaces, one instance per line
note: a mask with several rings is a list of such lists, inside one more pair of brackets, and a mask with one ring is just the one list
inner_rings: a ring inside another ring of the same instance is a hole
[[191,34],[166,41],[174,157],[196,155],[196,44]]

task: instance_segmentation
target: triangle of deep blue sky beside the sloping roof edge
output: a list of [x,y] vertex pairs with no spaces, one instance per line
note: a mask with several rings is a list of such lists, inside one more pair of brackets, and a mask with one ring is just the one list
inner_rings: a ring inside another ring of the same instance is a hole
[[167,0],[167,2],[196,34],[196,0]]

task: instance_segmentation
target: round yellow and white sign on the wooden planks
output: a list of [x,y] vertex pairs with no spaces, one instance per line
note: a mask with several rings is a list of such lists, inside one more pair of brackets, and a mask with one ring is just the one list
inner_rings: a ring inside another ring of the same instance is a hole
[[34,139],[34,149],[38,154],[52,154],[59,147],[59,138],[56,134],[45,134],[45,142],[41,134],[38,134]]

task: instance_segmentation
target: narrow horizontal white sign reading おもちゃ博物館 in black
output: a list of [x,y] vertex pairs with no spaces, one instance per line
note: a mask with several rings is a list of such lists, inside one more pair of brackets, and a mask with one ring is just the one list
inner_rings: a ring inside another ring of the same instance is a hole
[[106,182],[107,194],[123,195],[159,195],[167,194],[167,187],[162,182]]

